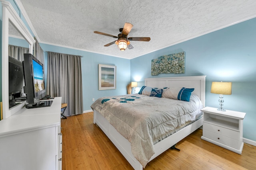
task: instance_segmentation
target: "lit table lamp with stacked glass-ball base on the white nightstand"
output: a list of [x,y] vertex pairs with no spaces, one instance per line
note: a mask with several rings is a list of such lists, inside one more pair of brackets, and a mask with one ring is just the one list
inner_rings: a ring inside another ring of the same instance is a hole
[[226,111],[223,109],[223,95],[224,94],[231,94],[231,87],[232,87],[232,82],[212,82],[212,88],[211,88],[211,93],[214,94],[220,94],[220,107],[217,109],[219,111]]

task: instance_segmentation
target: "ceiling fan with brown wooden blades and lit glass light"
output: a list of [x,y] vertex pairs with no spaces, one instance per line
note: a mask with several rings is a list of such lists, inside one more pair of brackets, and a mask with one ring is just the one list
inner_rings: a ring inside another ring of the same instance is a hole
[[121,51],[124,51],[126,48],[133,49],[132,45],[130,44],[130,41],[150,41],[150,37],[129,37],[129,38],[127,38],[127,35],[128,35],[128,33],[130,33],[132,27],[133,27],[133,25],[131,23],[128,23],[128,22],[124,23],[124,28],[119,29],[120,34],[118,34],[117,37],[115,35],[110,35],[110,34],[102,33],[99,31],[94,31],[94,33],[106,35],[106,36],[113,37],[113,38],[118,38],[116,41],[108,43],[104,46],[108,47],[108,46],[116,43],[118,49],[120,49]]

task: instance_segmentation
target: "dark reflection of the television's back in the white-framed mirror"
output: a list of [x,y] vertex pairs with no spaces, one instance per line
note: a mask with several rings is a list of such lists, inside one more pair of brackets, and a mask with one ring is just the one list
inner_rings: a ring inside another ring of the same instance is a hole
[[[23,85],[22,62],[9,56],[9,109],[24,101],[20,98]],[[17,99],[19,102],[16,102]]]

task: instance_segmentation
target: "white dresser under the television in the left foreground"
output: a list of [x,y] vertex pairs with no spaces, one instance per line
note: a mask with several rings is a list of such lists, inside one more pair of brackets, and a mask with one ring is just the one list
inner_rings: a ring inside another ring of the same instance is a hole
[[60,170],[61,97],[52,106],[23,107],[0,121],[0,170]]

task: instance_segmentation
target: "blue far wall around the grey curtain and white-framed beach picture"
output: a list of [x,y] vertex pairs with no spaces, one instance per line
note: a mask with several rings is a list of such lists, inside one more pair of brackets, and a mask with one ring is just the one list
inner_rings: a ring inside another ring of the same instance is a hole
[[[127,94],[126,85],[130,82],[130,60],[53,45],[47,45],[43,43],[40,43],[40,46],[44,51],[83,56],[81,59],[81,64],[84,111],[91,109],[90,106],[93,103],[92,98],[97,100],[98,98],[103,96]],[[47,52],[45,52],[44,56],[44,67],[46,71]],[[116,90],[98,90],[98,64],[116,66]],[[45,76],[47,76],[47,72]]]

